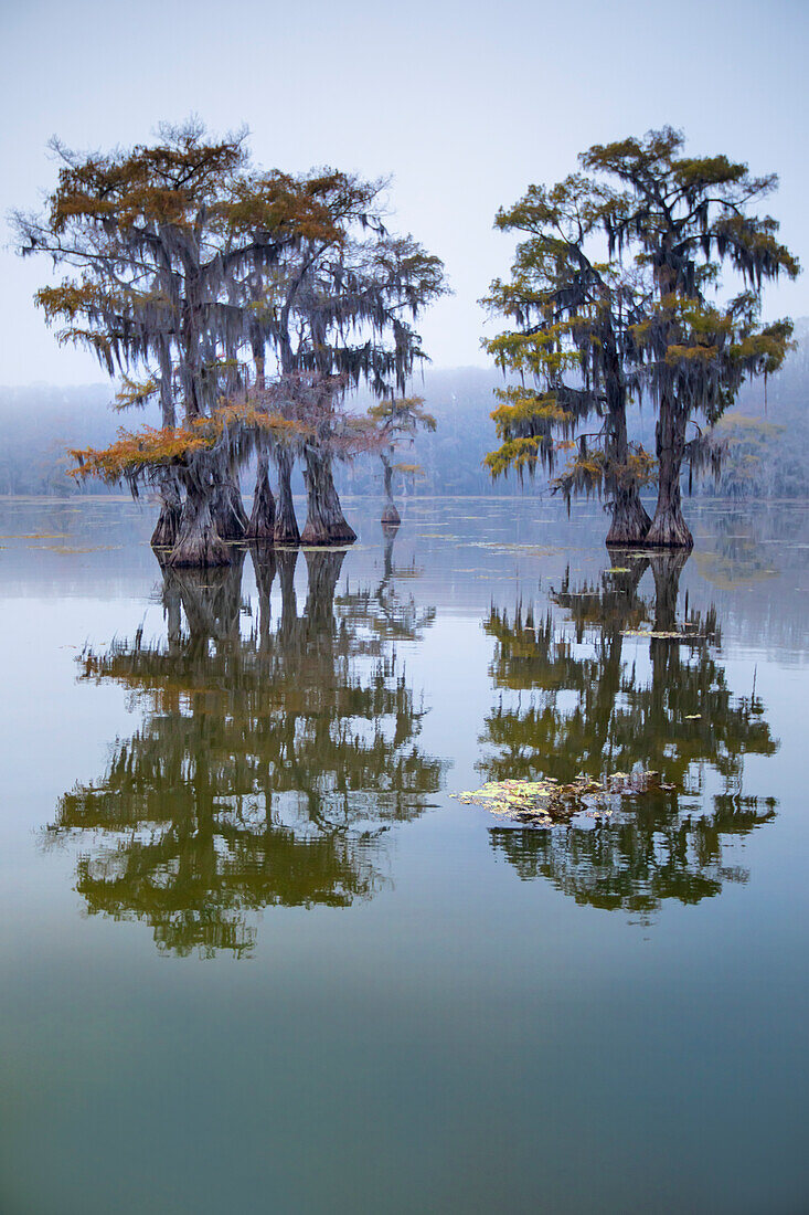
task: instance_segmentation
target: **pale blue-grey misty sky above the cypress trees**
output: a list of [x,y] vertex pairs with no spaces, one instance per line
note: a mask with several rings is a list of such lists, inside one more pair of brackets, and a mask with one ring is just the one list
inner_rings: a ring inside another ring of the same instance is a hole
[[[423,320],[426,350],[482,366],[476,301],[511,249],[494,211],[590,143],[668,123],[695,153],[776,171],[769,209],[809,270],[808,30],[805,0],[4,0],[1,209],[53,185],[52,134],[106,149],[192,112],[247,124],[265,166],[392,174],[392,226],[443,258],[456,293]],[[7,242],[0,382],[104,379],[33,306],[50,262]],[[768,290],[765,316],[785,313],[809,315],[809,272]]]

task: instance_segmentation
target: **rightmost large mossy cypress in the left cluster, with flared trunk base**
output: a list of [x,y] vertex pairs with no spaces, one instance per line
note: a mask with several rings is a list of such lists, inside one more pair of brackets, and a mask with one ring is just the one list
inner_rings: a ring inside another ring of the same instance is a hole
[[[334,486],[334,459],[351,458],[373,443],[373,428],[346,426],[345,399],[360,385],[377,397],[405,394],[414,366],[425,357],[414,322],[445,290],[443,265],[411,236],[384,222],[384,182],[346,177],[326,203],[332,234],[301,241],[267,277],[258,309],[277,383],[289,390],[290,419],[304,409],[307,425],[279,450],[276,539],[295,542],[298,524],[288,488],[290,458],[304,465],[307,519],[300,539],[351,543]],[[268,385],[270,386],[270,385]],[[304,391],[305,388],[305,391]]]

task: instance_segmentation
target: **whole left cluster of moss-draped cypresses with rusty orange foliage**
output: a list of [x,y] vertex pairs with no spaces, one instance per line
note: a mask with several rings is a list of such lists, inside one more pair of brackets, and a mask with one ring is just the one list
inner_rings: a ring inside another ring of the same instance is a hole
[[[53,147],[62,166],[45,213],[18,213],[16,226],[23,254],[50,254],[73,275],[36,301],[61,341],[87,346],[123,377],[119,407],[159,397],[165,431],[123,433],[108,453],[85,453],[81,475],[120,470],[132,486],[155,482],[163,512],[153,542],[172,546],[177,565],[210,565],[230,560],[222,541],[248,527],[236,475],[255,447],[260,509],[249,530],[299,538],[288,485],[299,454],[310,498],[304,539],[355,538],[330,460],[350,452],[358,423],[346,426],[336,402],[360,382],[378,395],[403,391],[424,357],[413,322],[445,289],[441,261],[387,231],[386,183],[328,168],[259,170],[243,131],[215,139],[197,120],[131,149]],[[268,372],[277,419],[260,425]],[[306,424],[295,417],[304,395]],[[237,399],[249,406],[241,413]]]

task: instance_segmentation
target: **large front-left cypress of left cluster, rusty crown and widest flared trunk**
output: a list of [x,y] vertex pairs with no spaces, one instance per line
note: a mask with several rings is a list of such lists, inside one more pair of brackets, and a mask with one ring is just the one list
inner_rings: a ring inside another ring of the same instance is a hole
[[[243,134],[216,140],[196,122],[162,128],[151,146],[57,148],[63,163],[45,214],[17,214],[16,226],[22,253],[47,253],[78,276],[44,288],[38,303],[62,324],[61,341],[87,346],[111,375],[126,378],[123,403],[159,394],[165,442],[147,439],[125,470],[132,485],[151,474],[160,486],[155,541],[174,542],[175,564],[226,563],[222,541],[239,538],[247,522],[236,480],[244,448],[186,442],[182,458],[177,451],[241,386],[239,351],[253,334],[247,282],[304,237],[334,237],[322,199],[340,175],[253,171]],[[232,440],[233,426],[220,437]],[[155,454],[151,468],[146,450]]]

